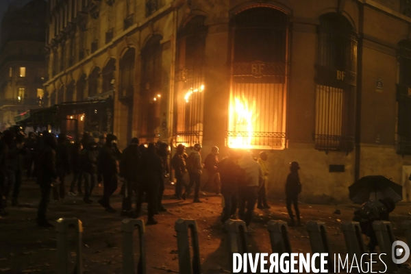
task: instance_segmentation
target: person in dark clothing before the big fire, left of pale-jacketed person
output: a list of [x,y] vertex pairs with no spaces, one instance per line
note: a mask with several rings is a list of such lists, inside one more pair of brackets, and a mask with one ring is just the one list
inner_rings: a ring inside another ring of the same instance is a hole
[[221,221],[225,223],[230,216],[236,213],[238,207],[238,184],[241,168],[238,165],[240,155],[234,149],[229,151],[229,156],[217,164],[217,172],[221,178],[221,194],[224,197],[224,209]]

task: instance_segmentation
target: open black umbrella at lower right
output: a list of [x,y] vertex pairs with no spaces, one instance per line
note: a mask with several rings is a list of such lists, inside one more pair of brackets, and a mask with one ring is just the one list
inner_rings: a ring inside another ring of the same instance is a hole
[[402,200],[402,186],[382,175],[365,176],[349,186],[349,199],[354,203],[391,198],[395,203]]

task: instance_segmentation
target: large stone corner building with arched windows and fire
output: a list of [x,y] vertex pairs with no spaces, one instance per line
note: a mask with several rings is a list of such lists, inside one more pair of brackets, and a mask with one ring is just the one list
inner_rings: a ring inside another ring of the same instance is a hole
[[266,150],[272,197],[297,161],[306,201],[347,201],[364,175],[407,198],[409,1],[49,3],[50,103],[112,95],[121,147]]

